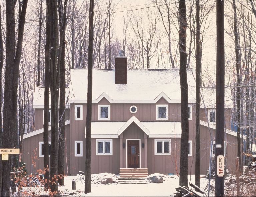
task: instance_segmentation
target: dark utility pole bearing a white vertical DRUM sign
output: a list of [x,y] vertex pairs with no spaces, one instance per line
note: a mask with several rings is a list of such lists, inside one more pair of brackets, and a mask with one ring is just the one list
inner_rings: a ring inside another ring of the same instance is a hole
[[224,0],[216,2],[216,132],[215,132],[215,196],[224,196],[224,85],[225,85],[225,50],[224,50]]

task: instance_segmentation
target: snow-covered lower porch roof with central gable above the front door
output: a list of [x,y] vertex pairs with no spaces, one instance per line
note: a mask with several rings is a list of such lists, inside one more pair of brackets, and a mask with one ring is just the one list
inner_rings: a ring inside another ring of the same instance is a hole
[[118,138],[118,136],[133,122],[150,138],[181,137],[180,122],[140,122],[135,116],[132,116],[127,122],[92,122],[91,137]]

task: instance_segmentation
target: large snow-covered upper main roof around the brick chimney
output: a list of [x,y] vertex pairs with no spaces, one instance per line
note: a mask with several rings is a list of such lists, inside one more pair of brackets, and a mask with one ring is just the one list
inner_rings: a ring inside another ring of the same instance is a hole
[[[87,101],[87,69],[71,69],[70,103]],[[179,69],[128,69],[127,84],[115,84],[115,70],[93,69],[92,100],[106,97],[111,103],[156,103],[162,96],[180,103]],[[195,80],[187,70],[188,99],[195,103]]]

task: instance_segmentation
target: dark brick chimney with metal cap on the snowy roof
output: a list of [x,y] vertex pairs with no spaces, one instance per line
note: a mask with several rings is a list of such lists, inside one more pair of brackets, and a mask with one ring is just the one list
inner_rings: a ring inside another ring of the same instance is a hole
[[127,57],[123,50],[115,57],[115,84],[127,84]]

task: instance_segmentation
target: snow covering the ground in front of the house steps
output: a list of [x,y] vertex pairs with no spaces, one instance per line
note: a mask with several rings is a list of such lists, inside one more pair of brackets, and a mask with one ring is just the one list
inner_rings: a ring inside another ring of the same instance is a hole
[[[72,194],[71,181],[78,179],[77,176],[65,177],[65,186],[59,187],[63,193],[68,192]],[[195,183],[195,175],[188,175],[189,183]],[[200,186],[205,188],[208,184],[208,179],[201,178]],[[84,193],[84,183],[76,181],[76,190],[80,193],[74,194],[75,196],[170,196],[176,192],[175,187],[179,186],[179,177],[176,175],[169,176],[163,183],[148,183],[148,184],[91,184],[92,193]]]

